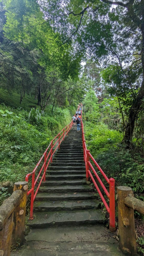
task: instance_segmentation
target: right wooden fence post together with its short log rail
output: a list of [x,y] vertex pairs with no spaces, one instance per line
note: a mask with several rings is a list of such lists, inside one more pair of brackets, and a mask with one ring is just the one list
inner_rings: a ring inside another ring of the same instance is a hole
[[117,188],[119,247],[124,255],[136,256],[136,233],[134,210],[144,214],[144,202],[133,196],[130,187]]

